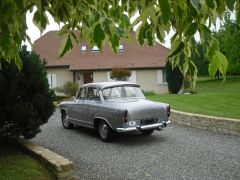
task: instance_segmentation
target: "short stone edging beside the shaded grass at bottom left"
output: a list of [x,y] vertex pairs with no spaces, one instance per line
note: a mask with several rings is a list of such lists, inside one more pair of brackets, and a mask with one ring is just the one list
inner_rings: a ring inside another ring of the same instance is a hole
[[43,163],[46,168],[53,173],[56,179],[76,179],[73,173],[73,162],[53,151],[50,151],[49,149],[36,145],[30,141],[20,139],[19,143],[25,150],[27,150],[31,155]]

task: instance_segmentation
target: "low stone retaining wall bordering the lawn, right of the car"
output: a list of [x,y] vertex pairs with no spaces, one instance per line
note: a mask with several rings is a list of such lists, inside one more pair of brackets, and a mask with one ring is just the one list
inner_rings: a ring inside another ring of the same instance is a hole
[[171,110],[170,119],[179,125],[240,136],[240,120],[238,119],[192,114],[176,110]]

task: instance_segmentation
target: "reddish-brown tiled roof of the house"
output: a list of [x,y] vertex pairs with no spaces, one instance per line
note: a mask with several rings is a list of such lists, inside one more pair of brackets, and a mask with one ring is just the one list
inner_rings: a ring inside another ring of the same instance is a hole
[[[147,45],[141,47],[137,41],[123,41],[123,51],[115,54],[105,45],[102,52],[92,52],[89,47],[86,52],[81,52],[80,47],[74,43],[71,52],[58,58],[58,49],[61,38],[58,31],[50,31],[35,41],[33,49],[47,62],[46,67],[69,66],[69,70],[97,70],[123,67],[136,68],[161,68],[166,64],[169,49],[156,43],[154,47]],[[85,45],[85,44],[82,44]]]

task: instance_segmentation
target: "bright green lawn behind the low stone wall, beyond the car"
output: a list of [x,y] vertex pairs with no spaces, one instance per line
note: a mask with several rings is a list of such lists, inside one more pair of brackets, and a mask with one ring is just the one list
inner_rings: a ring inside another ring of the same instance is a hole
[[154,101],[166,102],[173,109],[218,117],[240,119],[240,76],[222,80],[199,79],[197,94],[148,95]]

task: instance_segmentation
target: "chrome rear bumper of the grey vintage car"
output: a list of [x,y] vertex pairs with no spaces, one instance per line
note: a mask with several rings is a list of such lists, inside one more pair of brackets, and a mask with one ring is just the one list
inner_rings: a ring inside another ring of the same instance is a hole
[[117,128],[117,132],[133,132],[133,131],[142,131],[147,129],[159,129],[166,127],[168,124],[170,124],[171,121],[168,120],[167,122],[161,122],[157,124],[149,124],[149,125],[143,125],[143,126],[134,126],[134,127],[127,127],[127,128]]

